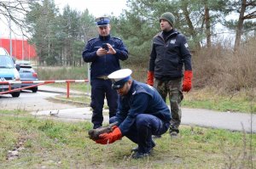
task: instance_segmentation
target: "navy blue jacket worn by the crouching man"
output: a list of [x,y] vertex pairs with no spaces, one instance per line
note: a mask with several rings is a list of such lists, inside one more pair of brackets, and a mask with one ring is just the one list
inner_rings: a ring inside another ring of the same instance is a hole
[[154,115],[163,122],[172,119],[171,111],[155,88],[133,80],[129,92],[119,97],[116,120],[122,135],[129,131],[139,114]]

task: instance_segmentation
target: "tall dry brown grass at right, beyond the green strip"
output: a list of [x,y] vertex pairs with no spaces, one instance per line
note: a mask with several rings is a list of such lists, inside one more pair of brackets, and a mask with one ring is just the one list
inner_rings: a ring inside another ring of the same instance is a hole
[[218,87],[233,93],[256,87],[256,39],[233,52],[225,46],[203,48],[193,56],[194,87]]

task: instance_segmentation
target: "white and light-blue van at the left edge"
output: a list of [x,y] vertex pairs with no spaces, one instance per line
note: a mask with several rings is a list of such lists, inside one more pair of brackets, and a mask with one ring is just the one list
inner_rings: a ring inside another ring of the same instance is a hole
[[[5,50],[5,49],[4,49]],[[0,48],[0,51],[4,51]],[[6,51],[6,50],[5,50]],[[0,82],[17,82],[20,81],[20,74],[18,70],[19,65],[15,66],[14,59],[7,54],[0,53]],[[11,89],[20,88],[20,83],[11,84]],[[0,93],[9,90],[9,85],[0,84]],[[20,90],[9,93],[13,97],[20,96]]]

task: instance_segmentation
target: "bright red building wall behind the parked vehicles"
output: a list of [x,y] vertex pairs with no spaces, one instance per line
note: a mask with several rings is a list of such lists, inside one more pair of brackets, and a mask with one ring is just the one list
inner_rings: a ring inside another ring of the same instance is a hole
[[[27,40],[12,39],[12,56],[16,59],[22,59],[22,41],[23,41],[23,59],[35,59],[37,56],[36,48],[30,45]],[[5,48],[10,54],[10,41],[8,38],[0,38],[0,47]]]

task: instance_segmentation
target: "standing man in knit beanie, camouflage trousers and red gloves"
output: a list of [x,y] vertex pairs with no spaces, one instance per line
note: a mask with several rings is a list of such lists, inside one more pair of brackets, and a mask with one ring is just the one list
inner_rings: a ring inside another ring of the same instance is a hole
[[171,137],[177,137],[179,132],[182,92],[189,92],[193,77],[187,40],[173,28],[174,22],[175,18],[170,12],[160,16],[161,32],[153,38],[147,82],[157,88],[164,101],[169,94],[172,111]]

